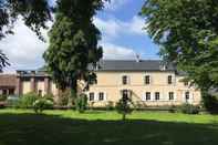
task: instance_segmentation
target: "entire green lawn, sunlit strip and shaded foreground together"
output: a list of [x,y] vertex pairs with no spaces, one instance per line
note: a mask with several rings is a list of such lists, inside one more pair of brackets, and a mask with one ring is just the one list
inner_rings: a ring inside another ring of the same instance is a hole
[[0,110],[0,145],[218,145],[218,116]]

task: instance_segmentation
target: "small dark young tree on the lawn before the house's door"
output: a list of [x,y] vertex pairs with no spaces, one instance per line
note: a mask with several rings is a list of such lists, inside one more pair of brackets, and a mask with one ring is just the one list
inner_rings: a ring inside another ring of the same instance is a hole
[[126,115],[131,114],[133,112],[133,108],[131,108],[132,101],[131,99],[125,99],[122,97],[117,103],[116,103],[116,111],[117,113],[122,114],[122,120],[126,120]]

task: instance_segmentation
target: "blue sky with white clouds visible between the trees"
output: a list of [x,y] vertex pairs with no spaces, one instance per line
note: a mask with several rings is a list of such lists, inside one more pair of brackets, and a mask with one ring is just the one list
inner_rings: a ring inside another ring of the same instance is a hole
[[[147,35],[144,20],[138,12],[145,0],[111,0],[105,9],[97,13],[94,23],[102,32],[101,45],[104,48],[104,59],[159,59],[158,46]],[[51,23],[49,23],[51,25]],[[38,69],[44,64],[42,59],[48,43],[19,20],[14,27],[15,34],[0,41],[0,49],[10,59],[11,66],[4,71]],[[42,30],[46,37],[46,30]]]

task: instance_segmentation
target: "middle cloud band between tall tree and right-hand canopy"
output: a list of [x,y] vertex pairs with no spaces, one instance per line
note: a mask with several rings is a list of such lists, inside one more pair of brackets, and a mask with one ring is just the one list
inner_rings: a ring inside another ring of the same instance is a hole
[[133,17],[129,21],[121,21],[115,18],[108,20],[95,18],[94,23],[101,30],[105,39],[114,39],[123,34],[146,34],[146,31],[143,30],[145,27],[144,20],[137,15]]

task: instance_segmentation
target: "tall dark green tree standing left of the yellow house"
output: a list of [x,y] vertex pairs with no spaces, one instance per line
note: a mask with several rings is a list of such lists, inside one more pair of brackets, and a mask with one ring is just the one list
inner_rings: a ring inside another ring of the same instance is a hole
[[44,52],[48,71],[62,90],[70,87],[77,94],[77,80],[94,79],[89,65],[95,66],[102,58],[97,45],[101,32],[93,17],[103,8],[103,0],[58,0],[55,22],[49,33],[50,45]]

